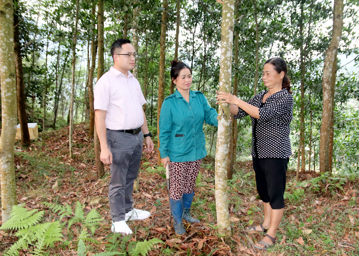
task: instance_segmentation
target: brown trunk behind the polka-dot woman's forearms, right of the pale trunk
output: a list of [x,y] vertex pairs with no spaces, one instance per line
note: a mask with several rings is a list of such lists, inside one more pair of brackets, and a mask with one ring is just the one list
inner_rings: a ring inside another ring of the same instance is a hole
[[[238,15],[238,4],[235,6],[234,13]],[[233,81],[233,95],[238,96],[238,31],[234,31],[234,81]],[[232,123],[230,124],[230,142],[228,150],[228,162],[227,162],[227,179],[233,179],[233,163],[236,159],[237,151],[237,119],[232,118]]]

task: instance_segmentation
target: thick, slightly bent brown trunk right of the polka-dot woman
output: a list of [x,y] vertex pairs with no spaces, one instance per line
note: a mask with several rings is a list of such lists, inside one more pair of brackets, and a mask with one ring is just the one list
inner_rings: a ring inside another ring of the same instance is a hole
[[343,30],[343,0],[334,0],[332,39],[325,52],[323,68],[323,114],[320,129],[320,172],[330,172],[330,140],[331,124],[334,112],[335,79],[337,71],[337,51]]

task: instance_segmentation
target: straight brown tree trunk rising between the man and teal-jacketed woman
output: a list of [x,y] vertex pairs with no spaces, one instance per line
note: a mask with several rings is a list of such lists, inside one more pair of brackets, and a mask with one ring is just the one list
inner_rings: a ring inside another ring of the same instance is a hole
[[[161,41],[160,41],[160,55],[159,55],[159,85],[158,85],[158,103],[157,103],[157,127],[159,127],[159,114],[161,112],[161,106],[164,100],[164,88],[165,88],[165,53],[166,53],[166,33],[167,33],[167,9],[168,0],[163,0],[162,11],[162,24],[161,24]],[[159,138],[159,129],[157,129],[157,138]],[[158,140],[158,148],[159,148]],[[158,150],[158,164],[161,162],[161,156]]]

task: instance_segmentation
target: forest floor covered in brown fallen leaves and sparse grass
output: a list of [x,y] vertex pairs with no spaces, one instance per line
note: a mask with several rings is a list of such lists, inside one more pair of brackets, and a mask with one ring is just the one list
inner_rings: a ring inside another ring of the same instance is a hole
[[[301,173],[300,182],[295,183],[295,172],[288,170],[286,207],[277,233],[278,243],[263,252],[251,246],[261,240],[262,234],[243,231],[249,224],[258,225],[263,220],[263,205],[253,182],[251,161],[236,162],[233,179],[228,181],[232,234],[218,234],[214,159],[206,157],[192,204],[192,215],[200,218],[201,223],[185,223],[187,233],[177,237],[169,223],[168,195],[161,176],[163,168],[157,167],[157,151],[143,153],[140,189],[133,194],[134,207],[150,211],[151,216],[144,221],[128,222],[134,231],[129,237],[115,236],[111,232],[108,202],[109,166],[105,167],[106,176],[98,179],[93,139],[88,137],[87,124],[76,125],[74,129],[76,157],[70,159],[68,131],[66,127],[44,132],[40,134],[41,140],[26,150],[16,146],[18,202],[27,209],[45,210],[41,222],[54,222],[60,215],[44,202],[69,204],[74,209],[78,201],[85,214],[95,208],[104,221],[99,223],[94,234],[81,223],[73,224],[70,229],[64,225],[62,240],[67,242],[55,242],[43,255],[78,255],[82,232],[89,236],[85,240],[87,255],[108,250],[130,253],[130,247],[136,244],[134,241],[151,238],[159,238],[162,243],[154,246],[148,255],[359,255],[358,177],[332,177],[311,171]],[[0,230],[0,255],[16,240],[13,231]],[[19,253],[32,255],[31,248]]]

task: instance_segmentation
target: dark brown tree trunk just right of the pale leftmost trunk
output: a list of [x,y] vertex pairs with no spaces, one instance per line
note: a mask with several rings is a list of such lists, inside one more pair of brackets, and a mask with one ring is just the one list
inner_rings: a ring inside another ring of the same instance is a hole
[[14,52],[15,52],[15,68],[16,68],[16,85],[17,85],[17,103],[18,115],[21,131],[21,144],[23,147],[30,146],[30,134],[27,126],[26,114],[26,96],[24,87],[24,72],[22,66],[21,44],[19,39],[19,16],[18,10],[14,13]]

